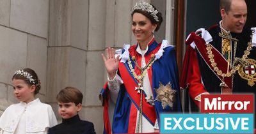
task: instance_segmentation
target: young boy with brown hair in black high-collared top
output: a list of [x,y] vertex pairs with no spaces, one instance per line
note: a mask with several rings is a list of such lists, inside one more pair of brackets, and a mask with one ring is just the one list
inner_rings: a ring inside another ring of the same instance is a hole
[[93,123],[81,121],[83,94],[75,87],[66,87],[57,95],[62,123],[49,128],[48,134],[95,134]]

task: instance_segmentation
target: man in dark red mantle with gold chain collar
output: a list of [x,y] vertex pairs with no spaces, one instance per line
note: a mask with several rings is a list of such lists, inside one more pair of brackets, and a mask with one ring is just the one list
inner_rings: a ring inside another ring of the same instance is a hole
[[256,93],[256,35],[244,27],[246,3],[220,0],[220,14],[219,24],[199,29],[186,40],[180,86],[188,88],[191,105],[199,106],[201,94]]

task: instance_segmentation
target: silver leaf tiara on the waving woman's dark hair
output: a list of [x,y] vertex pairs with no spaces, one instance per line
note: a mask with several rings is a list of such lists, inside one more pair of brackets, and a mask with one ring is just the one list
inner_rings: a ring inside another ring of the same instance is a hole
[[158,20],[158,17],[157,17],[157,13],[158,11],[154,9],[154,7],[149,4],[149,3],[146,3],[145,1],[144,2],[139,2],[139,3],[136,3],[133,8],[132,8],[132,12],[134,10],[143,10],[143,11],[147,11],[148,13],[150,13],[150,15],[152,17],[154,17],[154,19],[159,22]]

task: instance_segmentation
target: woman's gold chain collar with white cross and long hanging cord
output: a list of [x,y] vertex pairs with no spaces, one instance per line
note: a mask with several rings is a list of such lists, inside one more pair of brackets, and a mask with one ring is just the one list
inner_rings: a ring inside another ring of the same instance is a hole
[[131,70],[131,73],[133,75],[134,78],[136,78],[136,80],[138,81],[138,87],[135,87],[135,90],[138,90],[138,93],[140,93],[140,114],[138,117],[138,124],[137,124],[137,130],[136,133],[142,133],[142,101],[143,101],[143,78],[145,77],[147,70],[150,68],[150,66],[152,66],[152,64],[155,61],[155,55],[152,54],[150,61],[146,64],[146,66],[144,66],[143,68],[141,68],[139,66],[139,64],[136,62],[136,57],[132,56],[132,61],[134,61],[134,63],[136,64],[137,68],[140,70],[140,75],[137,75],[134,71],[134,68],[132,67],[131,64],[131,60],[128,59],[128,65],[129,65],[129,69]]

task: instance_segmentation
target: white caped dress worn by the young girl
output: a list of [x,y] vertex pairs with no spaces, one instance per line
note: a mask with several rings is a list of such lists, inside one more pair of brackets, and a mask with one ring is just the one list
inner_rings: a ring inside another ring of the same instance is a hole
[[51,105],[41,103],[37,98],[6,108],[0,117],[0,134],[47,134],[48,128],[56,124]]

